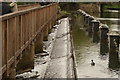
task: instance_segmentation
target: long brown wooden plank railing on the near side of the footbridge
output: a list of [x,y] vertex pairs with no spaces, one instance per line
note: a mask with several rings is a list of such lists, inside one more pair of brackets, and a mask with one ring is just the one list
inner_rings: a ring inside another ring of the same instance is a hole
[[[57,14],[57,3],[0,16],[0,54],[2,73],[9,69],[22,51],[30,45]],[[18,63],[18,62],[17,62]]]

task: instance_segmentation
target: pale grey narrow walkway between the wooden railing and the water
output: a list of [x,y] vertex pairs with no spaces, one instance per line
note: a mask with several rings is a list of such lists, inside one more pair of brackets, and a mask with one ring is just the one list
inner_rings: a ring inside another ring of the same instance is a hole
[[70,46],[69,20],[68,18],[64,18],[60,21],[58,27],[56,41],[45,78],[74,77]]

